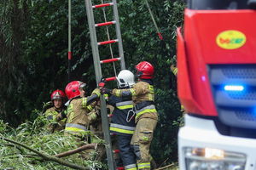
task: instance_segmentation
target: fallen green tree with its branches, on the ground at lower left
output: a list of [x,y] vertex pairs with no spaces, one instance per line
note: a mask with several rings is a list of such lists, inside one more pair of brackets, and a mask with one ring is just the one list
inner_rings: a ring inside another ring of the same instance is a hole
[[[97,159],[102,154],[98,148],[104,147],[102,141],[99,144],[86,144],[74,136],[63,135],[63,132],[49,133],[45,121],[44,116],[38,115],[34,122],[13,128],[0,120],[0,169],[108,168]],[[90,150],[86,159],[79,154],[84,150]]]

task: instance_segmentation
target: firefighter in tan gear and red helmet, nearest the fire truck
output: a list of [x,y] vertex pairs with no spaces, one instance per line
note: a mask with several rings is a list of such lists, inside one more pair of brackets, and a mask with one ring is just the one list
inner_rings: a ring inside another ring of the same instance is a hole
[[136,112],[136,128],[131,139],[131,145],[137,156],[138,169],[150,169],[149,147],[153,139],[154,128],[158,120],[154,106],[153,75],[154,66],[147,61],[136,65],[138,82],[133,88],[108,89],[102,88],[102,93],[117,97],[132,97]]

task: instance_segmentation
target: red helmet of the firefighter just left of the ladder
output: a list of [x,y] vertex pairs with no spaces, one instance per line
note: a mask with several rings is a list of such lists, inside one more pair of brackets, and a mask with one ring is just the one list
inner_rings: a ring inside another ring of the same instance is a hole
[[65,93],[67,94],[68,99],[73,99],[80,95],[79,88],[81,85],[85,85],[84,82],[80,81],[73,81],[69,82],[65,88]]

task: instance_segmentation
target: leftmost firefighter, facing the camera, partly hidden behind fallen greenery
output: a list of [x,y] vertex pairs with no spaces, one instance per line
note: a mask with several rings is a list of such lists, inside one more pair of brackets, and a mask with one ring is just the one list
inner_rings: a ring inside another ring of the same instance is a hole
[[44,115],[49,120],[47,129],[50,133],[60,132],[65,128],[66,123],[66,112],[64,106],[64,100],[66,95],[63,91],[57,89],[51,95],[50,99],[53,107],[45,111]]

